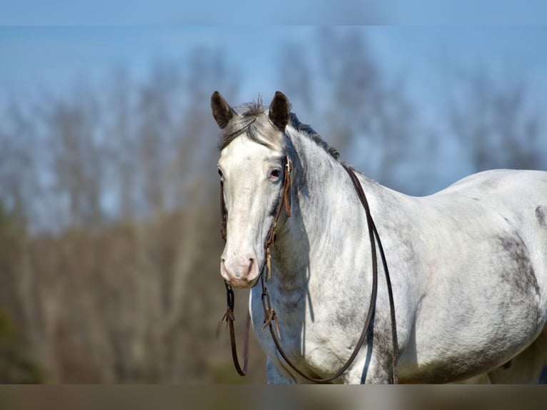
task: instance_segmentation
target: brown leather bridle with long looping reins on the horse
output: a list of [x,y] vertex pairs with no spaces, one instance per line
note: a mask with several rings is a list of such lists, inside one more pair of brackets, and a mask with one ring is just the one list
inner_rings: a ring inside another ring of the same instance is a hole
[[[371,290],[371,299],[370,304],[368,306],[368,312],[366,314],[365,323],[363,325],[363,330],[361,331],[361,336],[359,337],[359,340],[353,349],[353,352],[349,359],[346,361],[343,366],[341,366],[336,373],[332,374],[331,376],[325,377],[325,378],[316,378],[312,376],[308,376],[307,374],[303,373],[301,369],[298,369],[298,367],[293,364],[291,359],[288,359],[288,356],[286,355],[285,351],[283,351],[283,348],[281,347],[280,339],[281,337],[279,335],[279,328],[278,328],[278,321],[276,321],[276,311],[271,307],[270,302],[270,296],[268,293],[268,289],[266,287],[266,282],[271,277],[271,256],[270,256],[270,247],[275,241],[275,235],[276,235],[276,226],[278,223],[278,219],[281,216],[281,210],[285,209],[285,214],[287,217],[291,216],[291,198],[290,198],[290,188],[291,188],[291,171],[292,171],[292,162],[291,159],[288,158],[287,153],[285,152],[285,157],[283,159],[284,163],[284,172],[283,172],[283,186],[281,188],[281,193],[278,200],[278,205],[276,209],[275,217],[273,218],[273,223],[270,226],[268,236],[266,236],[266,241],[264,243],[264,252],[266,255],[266,278],[264,278],[264,267],[261,271],[261,287],[262,287],[262,306],[264,307],[264,326],[262,329],[266,329],[266,327],[269,328],[271,338],[273,339],[273,344],[276,345],[276,349],[278,353],[281,355],[283,360],[288,364],[288,366],[293,369],[293,371],[296,371],[297,374],[302,376],[304,379],[307,379],[308,381],[313,381],[316,383],[328,383],[329,381],[333,381],[334,379],[338,378],[343,374],[344,371],[348,369],[349,366],[353,363],[355,360],[359,350],[361,349],[361,346],[363,345],[366,335],[368,333],[368,329],[371,324],[372,316],[374,314],[375,308],[376,308],[376,294],[378,290],[378,260],[376,256],[376,241],[378,242],[378,249],[380,250],[380,256],[382,259],[383,264],[383,271],[386,274],[386,284],[388,287],[388,296],[389,296],[389,307],[390,307],[390,314],[391,314],[391,336],[392,336],[392,342],[393,342],[393,352],[391,357],[391,367],[392,367],[392,374],[393,384],[398,383],[398,375],[397,375],[397,356],[398,356],[398,342],[397,342],[397,329],[396,329],[396,318],[395,318],[395,305],[393,303],[393,290],[391,289],[391,279],[389,277],[389,271],[388,271],[388,265],[386,262],[386,256],[383,253],[383,246],[380,241],[380,236],[378,235],[378,231],[376,230],[376,225],[374,224],[374,221],[371,216],[370,207],[368,206],[368,201],[366,199],[366,195],[363,191],[363,187],[361,186],[361,182],[358,180],[355,172],[353,169],[351,169],[350,166],[346,164],[342,164],[343,169],[346,170],[348,175],[351,178],[351,181],[353,183],[353,187],[356,189],[357,195],[359,197],[359,200],[361,201],[361,204],[363,206],[363,209],[365,210],[366,214],[366,223],[368,225],[368,236],[371,243],[371,256],[372,256],[372,290]],[[221,181],[221,236],[224,242],[226,242],[226,223],[228,221],[228,214],[226,211],[226,204],[224,203],[224,184]],[[232,353],[232,359],[234,360],[234,366],[236,368],[236,371],[241,375],[245,376],[247,373],[247,365],[248,365],[248,346],[249,346],[249,323],[250,323],[250,316],[248,314],[247,316],[247,330],[246,330],[246,343],[244,346],[244,366],[241,368],[239,364],[239,359],[237,356],[237,347],[236,347],[236,335],[234,330],[234,290],[231,289],[231,286],[228,282],[224,282],[226,285],[226,301],[227,301],[227,308],[226,313],[224,314],[222,320],[226,320],[226,322],[229,325],[229,331],[230,331],[230,340],[231,340],[231,353]],[[273,329],[273,323],[276,324],[276,329]]]

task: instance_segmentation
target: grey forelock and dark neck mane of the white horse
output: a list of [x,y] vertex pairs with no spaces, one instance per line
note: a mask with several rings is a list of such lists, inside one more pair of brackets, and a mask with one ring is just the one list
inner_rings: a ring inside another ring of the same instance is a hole
[[[249,139],[265,146],[273,148],[273,143],[278,139],[279,130],[272,124],[266,113],[267,107],[262,105],[262,99],[249,104],[236,107],[241,111],[232,118],[228,125],[222,130],[219,141],[219,150],[223,150],[236,137],[246,133]],[[289,125],[300,134],[307,136],[311,141],[324,149],[336,161],[340,159],[340,153],[336,148],[327,144],[309,124],[303,124],[298,120],[296,114],[291,112]]]

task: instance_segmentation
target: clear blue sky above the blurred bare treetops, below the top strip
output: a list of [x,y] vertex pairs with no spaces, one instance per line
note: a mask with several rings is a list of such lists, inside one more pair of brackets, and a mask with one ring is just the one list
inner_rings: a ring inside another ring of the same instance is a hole
[[[446,92],[449,69],[482,64],[526,79],[547,96],[546,27],[368,26],[362,28],[381,67],[403,76],[423,110]],[[94,84],[115,66],[137,79],[154,62],[182,61],[194,46],[220,47],[239,67],[241,98],[278,89],[282,44],[312,44],[313,26],[56,26],[0,28],[0,102],[43,91],[62,94],[76,81]]]

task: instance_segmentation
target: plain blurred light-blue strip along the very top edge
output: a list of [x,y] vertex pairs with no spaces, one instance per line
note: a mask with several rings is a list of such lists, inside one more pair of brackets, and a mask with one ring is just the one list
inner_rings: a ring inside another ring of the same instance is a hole
[[0,24],[544,25],[543,0],[0,0]]

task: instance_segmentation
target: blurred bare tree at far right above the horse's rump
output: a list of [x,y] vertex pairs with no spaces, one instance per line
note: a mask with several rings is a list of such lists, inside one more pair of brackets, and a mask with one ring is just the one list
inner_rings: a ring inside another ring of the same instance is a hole
[[546,166],[544,119],[525,82],[496,79],[486,68],[461,70],[457,79],[448,120],[476,171]]

